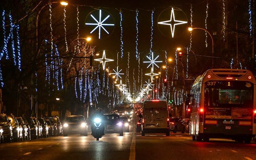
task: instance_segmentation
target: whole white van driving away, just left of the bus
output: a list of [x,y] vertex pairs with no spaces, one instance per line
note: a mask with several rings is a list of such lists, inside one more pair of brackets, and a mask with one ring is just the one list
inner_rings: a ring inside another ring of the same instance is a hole
[[152,100],[144,102],[141,130],[141,136],[145,136],[145,133],[170,135],[167,101]]

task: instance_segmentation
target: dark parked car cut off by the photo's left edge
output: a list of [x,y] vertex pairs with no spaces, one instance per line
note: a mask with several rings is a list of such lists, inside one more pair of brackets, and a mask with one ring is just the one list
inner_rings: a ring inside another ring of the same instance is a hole
[[0,142],[12,142],[12,140],[13,134],[11,120],[8,119],[6,114],[0,114]]

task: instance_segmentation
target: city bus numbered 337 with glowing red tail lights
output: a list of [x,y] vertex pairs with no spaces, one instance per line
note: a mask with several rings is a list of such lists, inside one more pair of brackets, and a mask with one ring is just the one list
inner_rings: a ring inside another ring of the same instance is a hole
[[250,143],[256,135],[255,85],[249,70],[210,69],[198,76],[190,98],[192,139]]

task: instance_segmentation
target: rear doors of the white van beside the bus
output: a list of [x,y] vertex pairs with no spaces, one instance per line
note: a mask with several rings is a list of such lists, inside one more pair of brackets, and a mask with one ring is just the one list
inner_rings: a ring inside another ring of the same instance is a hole
[[145,101],[143,105],[144,128],[167,128],[166,101]]

